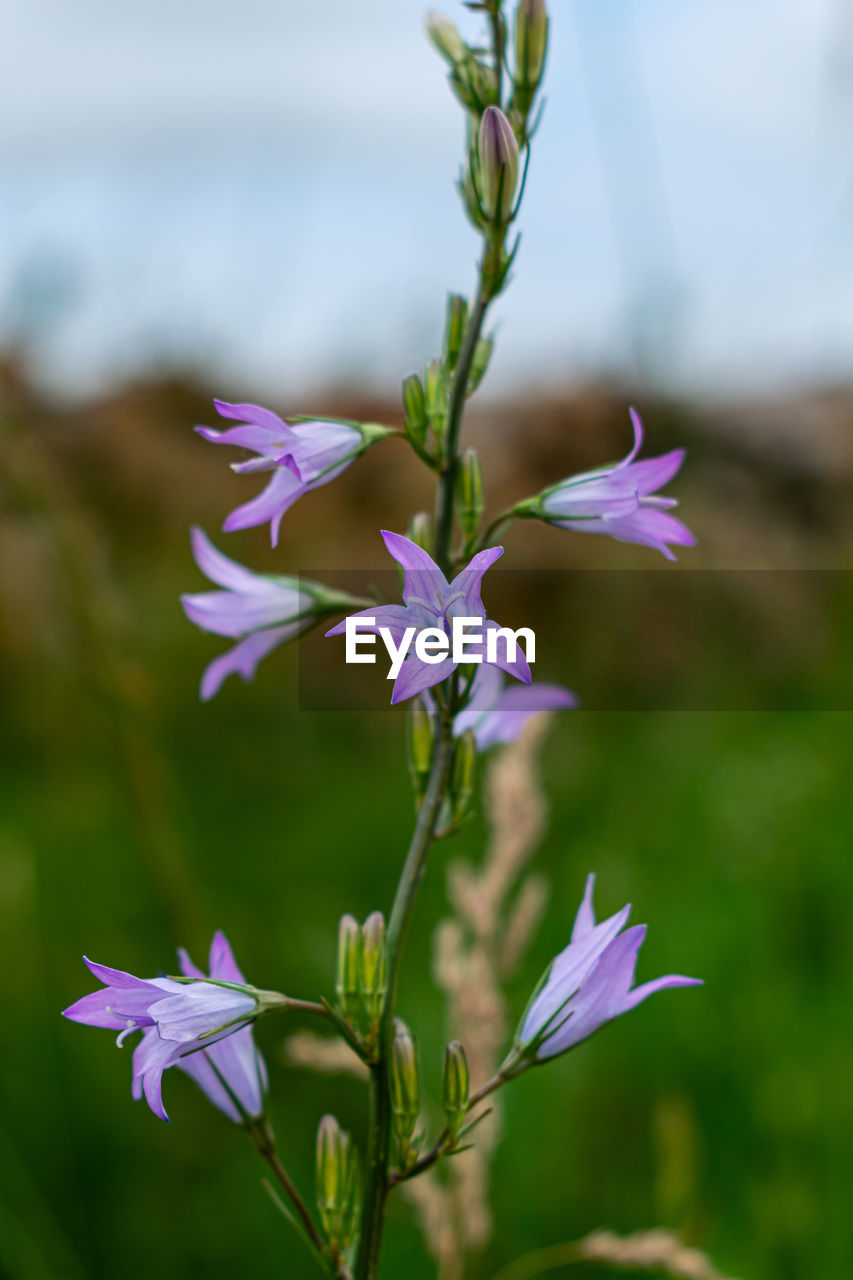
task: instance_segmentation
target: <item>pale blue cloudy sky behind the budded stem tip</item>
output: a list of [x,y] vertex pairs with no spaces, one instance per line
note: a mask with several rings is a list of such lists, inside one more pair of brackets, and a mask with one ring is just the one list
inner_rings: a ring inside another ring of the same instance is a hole
[[[154,362],[287,403],[393,387],[475,252],[424,8],[0,0],[0,340],[28,332],[65,392]],[[492,389],[848,378],[849,0],[551,10]]]

